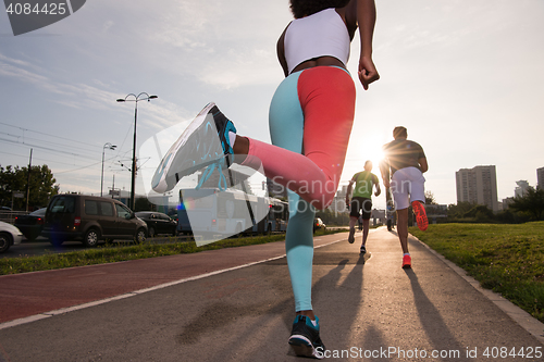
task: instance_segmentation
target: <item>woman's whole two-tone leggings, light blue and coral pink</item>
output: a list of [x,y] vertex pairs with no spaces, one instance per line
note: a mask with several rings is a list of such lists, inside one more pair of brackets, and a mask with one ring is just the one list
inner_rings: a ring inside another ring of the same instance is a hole
[[[314,210],[336,194],[355,113],[355,85],[344,70],[320,66],[294,73],[270,104],[272,145],[249,139],[243,163],[289,190],[285,250],[296,311],[312,310]],[[296,192],[296,194],[295,194]]]

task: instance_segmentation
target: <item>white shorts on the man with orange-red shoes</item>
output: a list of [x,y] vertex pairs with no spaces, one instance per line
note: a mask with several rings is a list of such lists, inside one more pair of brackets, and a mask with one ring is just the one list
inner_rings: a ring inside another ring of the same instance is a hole
[[425,177],[416,167],[400,168],[393,174],[391,194],[396,210],[408,209],[416,200],[425,203]]

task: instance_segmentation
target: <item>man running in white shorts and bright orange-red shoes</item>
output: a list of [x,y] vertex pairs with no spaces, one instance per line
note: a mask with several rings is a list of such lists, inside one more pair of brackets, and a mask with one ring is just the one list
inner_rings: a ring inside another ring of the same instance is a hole
[[[429,170],[423,148],[408,140],[405,127],[395,127],[395,140],[383,146],[384,161],[380,165],[383,184],[391,187],[397,212],[397,233],[403,248],[403,267],[411,267],[411,257],[408,251],[408,207],[413,208],[416,221],[421,230],[426,230],[429,221],[425,213],[425,178],[423,173]],[[391,171],[391,173],[390,173]],[[391,180],[390,180],[391,174]]]

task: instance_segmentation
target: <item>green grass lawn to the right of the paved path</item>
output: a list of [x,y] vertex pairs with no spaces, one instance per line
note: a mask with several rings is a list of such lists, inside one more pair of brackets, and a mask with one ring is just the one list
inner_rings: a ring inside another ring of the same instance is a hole
[[544,222],[521,225],[440,224],[410,233],[482,287],[544,322]]

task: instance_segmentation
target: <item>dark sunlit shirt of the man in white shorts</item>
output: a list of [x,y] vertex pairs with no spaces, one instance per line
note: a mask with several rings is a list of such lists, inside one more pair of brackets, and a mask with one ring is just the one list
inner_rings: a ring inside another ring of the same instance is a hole
[[383,147],[383,153],[390,161],[391,175],[406,167],[416,167],[421,171],[418,160],[425,157],[423,148],[411,140],[395,139]]

